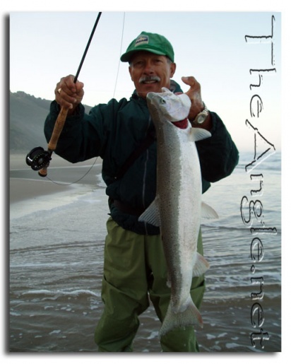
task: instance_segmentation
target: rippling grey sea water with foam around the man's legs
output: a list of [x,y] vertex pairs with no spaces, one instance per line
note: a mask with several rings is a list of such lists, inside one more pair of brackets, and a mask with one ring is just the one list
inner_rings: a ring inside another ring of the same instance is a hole
[[[252,158],[250,153],[242,154],[232,175],[213,183],[203,195],[219,218],[202,223],[210,269],[201,307],[204,326],[196,331],[201,351],[281,348],[280,153],[247,172]],[[79,183],[50,195],[49,200],[40,196],[37,204],[32,199],[11,204],[11,352],[97,351],[93,337],[103,310],[103,247],[109,211],[100,172],[96,179],[95,186]],[[242,208],[242,201],[249,204]],[[246,223],[248,211],[252,225]],[[252,233],[251,228],[256,230]],[[267,228],[275,230],[267,233]],[[263,250],[261,256],[255,257],[254,242]],[[261,322],[256,322],[258,313]],[[160,322],[152,306],[140,321],[134,351],[160,352]]]

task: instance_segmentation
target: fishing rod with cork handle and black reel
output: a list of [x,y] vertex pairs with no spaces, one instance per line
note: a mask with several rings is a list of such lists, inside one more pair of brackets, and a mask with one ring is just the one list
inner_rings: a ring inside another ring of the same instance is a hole
[[[81,68],[83,66],[83,61],[86,57],[86,54],[88,52],[90,42],[93,38],[93,35],[95,33],[95,29],[97,27],[97,24],[99,22],[100,16],[102,12],[98,13],[97,19],[95,20],[95,24],[93,26],[93,30],[91,32],[91,35],[89,37],[87,46],[85,47],[85,51],[83,54],[83,57],[81,59],[80,65],[78,66],[78,71],[76,73],[76,76],[73,80],[74,83],[78,80],[78,75],[80,74]],[[66,117],[68,115],[69,108],[68,107],[61,107],[61,110],[59,112],[59,115],[57,117],[57,120],[54,124],[54,129],[52,131],[51,139],[49,140],[49,143],[47,145],[47,151],[44,151],[44,148],[41,146],[37,146],[36,148],[33,148],[28,155],[26,155],[26,164],[29,165],[32,170],[38,170],[38,174],[40,177],[46,177],[47,176],[47,168],[49,167],[49,162],[52,160],[52,153],[57,148],[57,143],[59,141],[59,136],[61,135],[61,131],[64,128],[64,124],[66,122]]]

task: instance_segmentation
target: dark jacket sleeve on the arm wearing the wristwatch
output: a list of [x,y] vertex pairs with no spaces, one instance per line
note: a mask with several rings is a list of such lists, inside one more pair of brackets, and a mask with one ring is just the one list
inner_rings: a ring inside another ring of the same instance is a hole
[[210,112],[212,136],[196,142],[201,164],[201,174],[208,182],[217,182],[229,176],[239,161],[239,152],[232,138],[215,112]]

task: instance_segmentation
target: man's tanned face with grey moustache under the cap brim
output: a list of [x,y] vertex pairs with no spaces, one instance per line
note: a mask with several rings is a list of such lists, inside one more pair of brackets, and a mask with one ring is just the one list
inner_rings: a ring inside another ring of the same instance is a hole
[[141,98],[148,92],[160,93],[162,87],[170,88],[170,78],[174,75],[176,64],[165,56],[150,52],[136,52],[131,58],[129,74]]

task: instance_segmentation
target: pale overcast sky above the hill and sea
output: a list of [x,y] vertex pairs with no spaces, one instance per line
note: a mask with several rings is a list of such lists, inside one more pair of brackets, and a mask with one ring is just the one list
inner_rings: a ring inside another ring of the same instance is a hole
[[[76,74],[97,13],[11,12],[11,92],[52,100],[59,79]],[[272,16],[273,38],[246,42],[245,35],[271,36]],[[280,13],[104,11],[79,75],[85,84],[85,104],[131,96],[128,64],[119,57],[143,30],[170,40],[177,63],[174,80],[183,90],[188,87],[182,76],[194,76],[201,83],[204,102],[220,115],[240,149],[253,148],[254,132],[245,121],[251,117],[251,97],[259,94],[263,112],[254,126],[280,148]],[[275,71],[260,75],[250,74],[250,69]],[[251,83],[259,84],[261,76],[261,86],[251,90]]]

